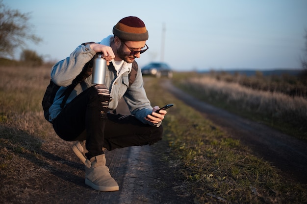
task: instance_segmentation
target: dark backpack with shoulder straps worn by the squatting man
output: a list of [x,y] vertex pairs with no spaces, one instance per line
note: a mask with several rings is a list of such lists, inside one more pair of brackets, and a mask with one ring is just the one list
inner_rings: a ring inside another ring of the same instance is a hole
[[[90,43],[93,43],[93,42],[90,42]],[[90,43],[83,43],[82,45],[87,45],[87,44],[90,44]],[[93,57],[89,62],[87,62],[84,65],[84,67],[82,68],[82,71],[73,80],[72,84],[69,85],[67,87],[67,89],[60,96],[60,97],[64,96],[62,104],[61,104],[61,108],[64,108],[65,103],[66,103],[69,95],[75,89],[77,84],[79,84],[80,82],[82,82],[84,79],[86,79],[87,77],[89,77],[92,74],[94,58],[95,57]],[[138,70],[138,65],[135,61],[133,61],[131,71],[128,75],[129,86],[134,82],[136,75],[137,75],[137,70]],[[44,94],[44,97],[43,97],[43,100],[42,100],[44,117],[47,121],[49,121],[49,115],[50,115],[49,108],[53,104],[55,94],[59,89],[60,89],[60,86],[56,85],[52,80],[50,80],[50,84],[47,86],[47,89],[45,91],[45,94]]]

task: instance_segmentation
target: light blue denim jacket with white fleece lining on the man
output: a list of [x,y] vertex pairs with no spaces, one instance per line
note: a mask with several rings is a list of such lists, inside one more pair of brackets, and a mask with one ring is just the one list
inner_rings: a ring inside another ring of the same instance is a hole
[[[79,45],[69,57],[56,63],[51,69],[51,80],[61,86],[57,91],[54,102],[49,109],[52,121],[61,112],[61,103],[63,97],[60,98],[66,87],[72,83],[75,77],[81,72],[84,65],[90,61],[96,52],[90,48],[90,45]],[[146,115],[152,113],[153,107],[146,96],[143,87],[143,78],[141,68],[138,68],[135,81],[129,86],[128,74],[131,70],[131,63],[124,62],[120,73],[117,75],[116,70],[106,70],[105,85],[110,90],[111,101],[109,108],[115,110],[119,100],[124,97],[130,113],[145,124],[159,126],[161,124],[153,124],[144,119]],[[93,86],[91,83],[92,75],[78,84],[74,91],[70,94],[66,104],[72,101],[79,93]]]

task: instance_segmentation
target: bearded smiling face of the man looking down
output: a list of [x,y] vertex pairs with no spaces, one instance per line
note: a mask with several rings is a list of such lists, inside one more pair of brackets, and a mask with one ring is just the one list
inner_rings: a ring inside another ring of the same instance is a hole
[[[126,41],[121,42],[121,45],[117,49],[117,55],[127,63],[132,63],[135,58],[140,58],[140,52],[130,55],[131,51],[139,51],[145,47],[146,41]],[[126,45],[125,45],[126,44]]]

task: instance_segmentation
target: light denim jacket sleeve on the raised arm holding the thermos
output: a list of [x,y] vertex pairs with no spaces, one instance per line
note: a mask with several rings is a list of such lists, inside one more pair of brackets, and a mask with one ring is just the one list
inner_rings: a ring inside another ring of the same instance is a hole
[[69,57],[52,67],[51,80],[58,86],[67,87],[95,54],[96,52],[90,48],[90,45],[79,45]]

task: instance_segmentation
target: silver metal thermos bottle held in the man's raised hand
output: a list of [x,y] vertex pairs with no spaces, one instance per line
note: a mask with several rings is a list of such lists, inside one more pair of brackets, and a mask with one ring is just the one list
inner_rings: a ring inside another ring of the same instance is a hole
[[104,84],[105,83],[105,70],[106,60],[102,58],[101,54],[94,59],[92,84]]

